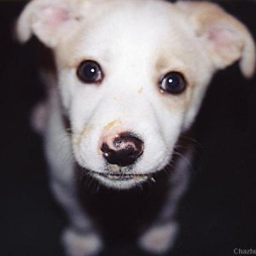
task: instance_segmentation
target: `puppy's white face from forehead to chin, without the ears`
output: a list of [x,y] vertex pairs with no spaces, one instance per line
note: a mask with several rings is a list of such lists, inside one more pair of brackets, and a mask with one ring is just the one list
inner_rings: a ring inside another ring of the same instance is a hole
[[164,8],[85,20],[56,58],[76,160],[119,188],[166,166],[212,75],[189,26]]

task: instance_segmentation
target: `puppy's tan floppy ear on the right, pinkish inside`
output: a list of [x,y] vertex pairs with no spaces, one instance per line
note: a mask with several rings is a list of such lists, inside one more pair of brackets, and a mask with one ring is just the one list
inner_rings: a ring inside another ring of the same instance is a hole
[[178,2],[177,6],[189,17],[216,68],[240,60],[241,73],[247,78],[253,76],[255,45],[246,26],[214,3]]

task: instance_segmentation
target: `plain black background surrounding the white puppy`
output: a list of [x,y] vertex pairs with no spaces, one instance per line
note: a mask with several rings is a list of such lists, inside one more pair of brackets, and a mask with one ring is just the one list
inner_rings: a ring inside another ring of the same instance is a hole
[[[256,38],[256,3],[221,2]],[[49,192],[42,142],[30,127],[32,106],[44,95],[38,47],[11,36],[24,3],[0,3],[0,254],[58,256],[66,223]],[[193,181],[178,212],[173,256],[234,255],[256,249],[256,79],[237,65],[212,80],[195,125]],[[170,255],[171,253],[167,253]],[[148,255],[133,244],[101,255]]]

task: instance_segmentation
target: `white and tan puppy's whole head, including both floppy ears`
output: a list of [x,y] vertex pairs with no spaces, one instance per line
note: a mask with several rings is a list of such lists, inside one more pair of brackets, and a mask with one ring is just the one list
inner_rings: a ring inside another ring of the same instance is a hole
[[215,71],[240,60],[250,77],[255,62],[246,27],[213,3],[34,0],[17,32],[54,50],[75,159],[119,189],[168,164]]

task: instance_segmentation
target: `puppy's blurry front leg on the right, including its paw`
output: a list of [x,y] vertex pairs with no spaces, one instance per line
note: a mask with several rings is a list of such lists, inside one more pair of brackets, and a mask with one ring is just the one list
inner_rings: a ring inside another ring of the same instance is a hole
[[178,224],[175,219],[177,204],[189,182],[189,160],[192,150],[177,161],[177,166],[170,179],[170,190],[166,204],[161,209],[154,224],[139,238],[139,245],[150,253],[165,253],[176,239]]

